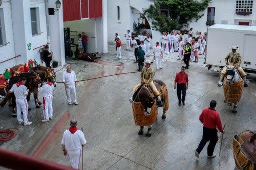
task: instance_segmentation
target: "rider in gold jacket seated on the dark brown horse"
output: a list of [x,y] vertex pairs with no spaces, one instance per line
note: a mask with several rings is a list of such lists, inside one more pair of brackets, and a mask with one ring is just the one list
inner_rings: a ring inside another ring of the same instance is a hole
[[146,60],[144,63],[145,67],[142,68],[140,73],[141,82],[134,87],[134,91],[137,90],[141,85],[150,86],[150,88],[153,91],[153,94],[157,97],[156,104],[158,106],[162,106],[160,94],[153,83],[154,69],[150,67],[151,61]]

